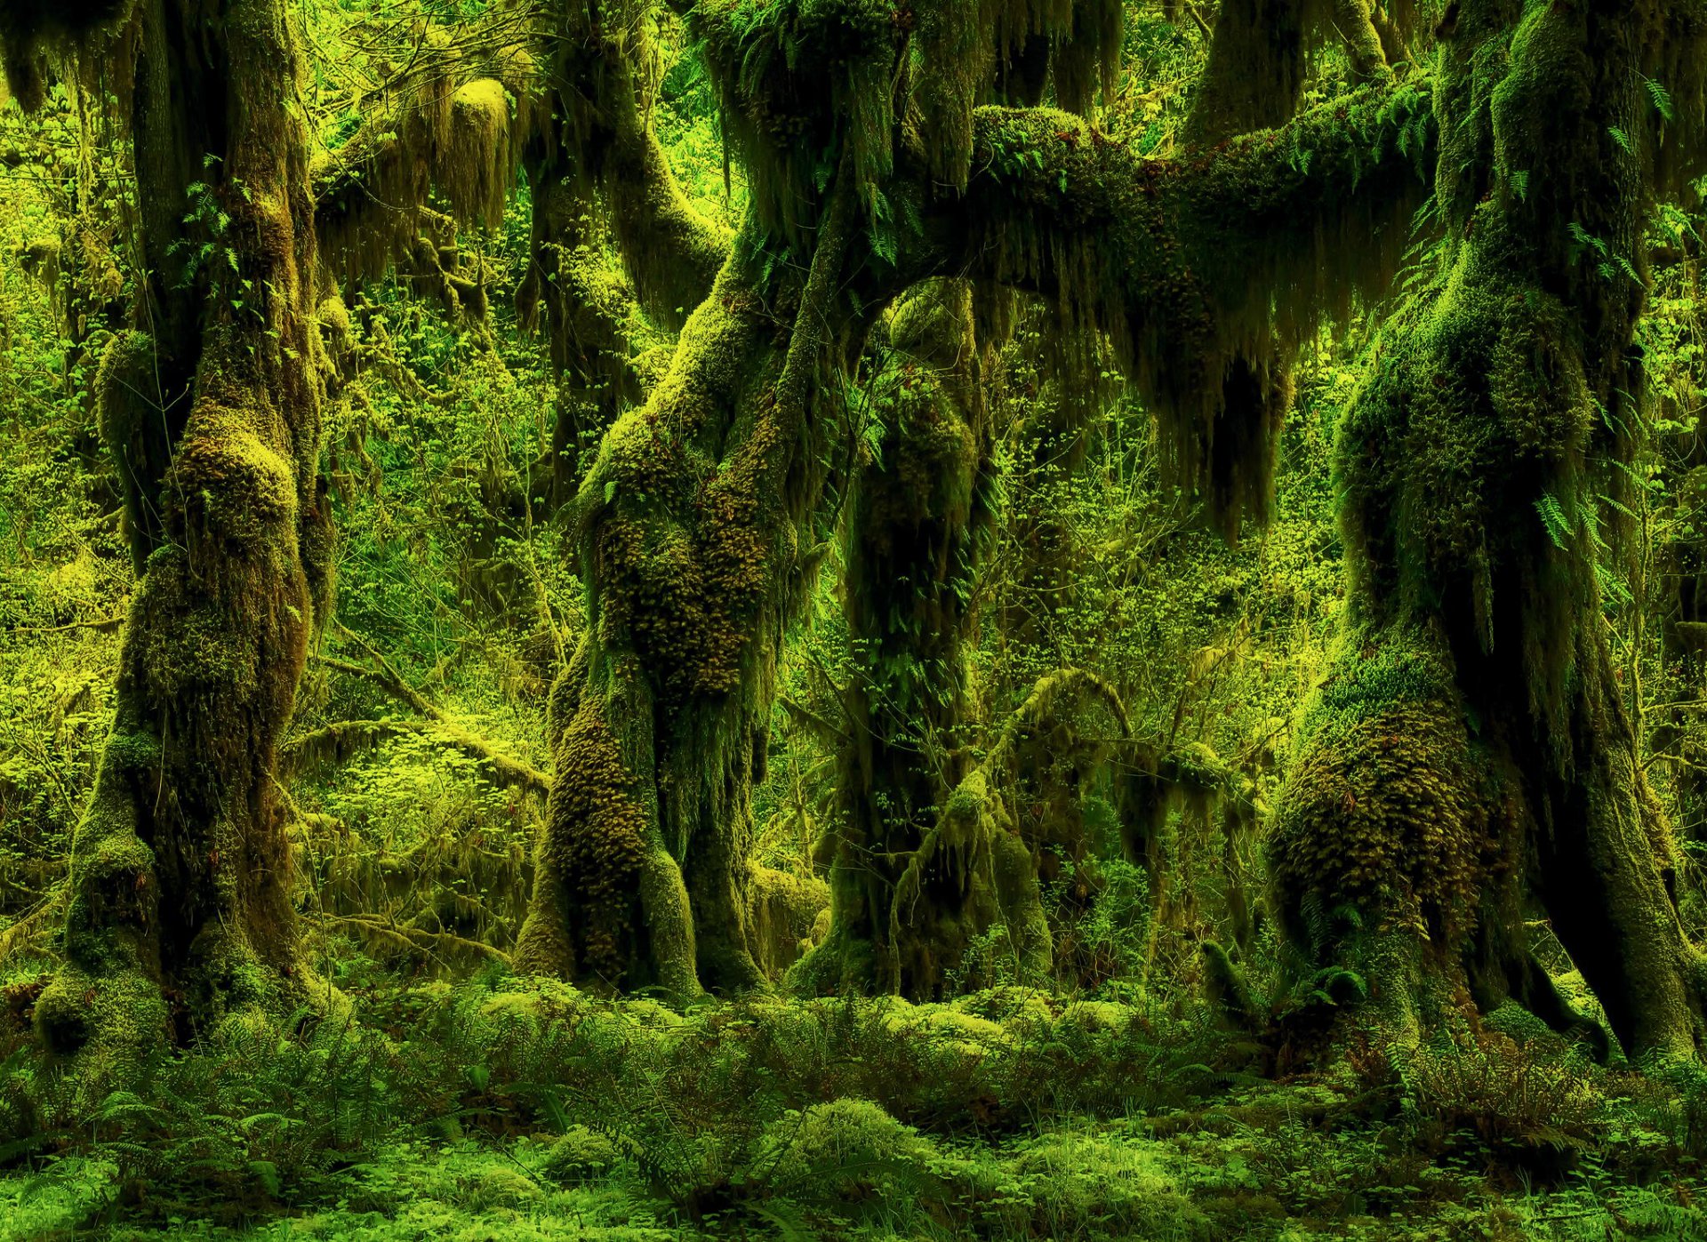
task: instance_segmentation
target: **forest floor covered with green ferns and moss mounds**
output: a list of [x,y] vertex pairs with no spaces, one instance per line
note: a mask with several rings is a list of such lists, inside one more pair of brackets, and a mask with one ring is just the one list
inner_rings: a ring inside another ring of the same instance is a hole
[[0,1237],[1707,1239],[1700,1085],[1518,1020],[1263,1075],[1200,1017],[1016,988],[352,995],[104,1095],[15,1039]]

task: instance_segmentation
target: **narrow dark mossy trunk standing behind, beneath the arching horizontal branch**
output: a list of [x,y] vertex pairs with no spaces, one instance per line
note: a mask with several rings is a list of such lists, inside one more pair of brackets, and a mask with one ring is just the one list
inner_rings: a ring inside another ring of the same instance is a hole
[[1033,972],[1050,945],[1036,863],[1004,804],[954,798],[973,769],[966,657],[993,485],[966,281],[913,290],[889,346],[871,382],[883,444],[842,532],[855,676],[830,933],[790,984],[934,998],[980,940],[1000,937],[983,947]]

